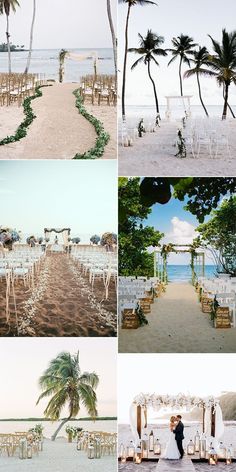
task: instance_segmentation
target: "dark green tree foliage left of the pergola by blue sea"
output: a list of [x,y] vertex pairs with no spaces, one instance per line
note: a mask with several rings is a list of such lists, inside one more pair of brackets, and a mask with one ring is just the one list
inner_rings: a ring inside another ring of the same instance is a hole
[[140,179],[119,179],[119,273],[153,275],[154,258],[149,246],[158,246],[163,235],[153,227],[143,226],[151,209],[142,201]]

